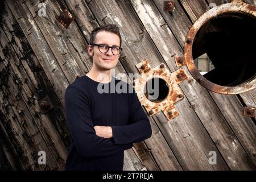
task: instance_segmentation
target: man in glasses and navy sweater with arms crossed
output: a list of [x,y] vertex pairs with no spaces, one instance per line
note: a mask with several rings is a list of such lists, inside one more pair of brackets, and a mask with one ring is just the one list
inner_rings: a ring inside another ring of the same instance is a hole
[[[121,81],[110,74],[121,50],[121,36],[114,24],[92,31],[88,46],[92,69],[65,91],[72,136],[66,170],[122,170],[124,150],[151,137],[149,119],[133,88],[133,93],[99,93],[99,84],[110,88]],[[100,75],[106,75],[104,81]]]

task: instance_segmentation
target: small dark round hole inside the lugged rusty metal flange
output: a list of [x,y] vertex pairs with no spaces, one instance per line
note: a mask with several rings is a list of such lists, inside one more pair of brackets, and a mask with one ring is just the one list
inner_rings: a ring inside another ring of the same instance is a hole
[[152,78],[146,82],[144,93],[148,100],[152,102],[162,102],[169,93],[169,87],[162,78]]

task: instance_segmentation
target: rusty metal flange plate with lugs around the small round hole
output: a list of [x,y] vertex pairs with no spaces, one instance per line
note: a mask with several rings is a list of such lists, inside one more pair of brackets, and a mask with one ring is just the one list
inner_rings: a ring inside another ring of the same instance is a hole
[[[180,82],[183,82],[188,78],[184,70],[177,69],[175,72],[170,73],[164,64],[151,68],[146,59],[143,59],[141,63],[138,63],[136,67],[139,69],[139,72],[141,72],[141,76],[133,81],[133,86],[139,101],[145,107],[147,113],[151,116],[162,110],[168,121],[179,115],[175,109],[174,103],[184,98],[184,94],[179,87]],[[161,78],[168,85],[167,97],[160,102],[152,102],[151,100],[148,100],[144,92],[147,81],[156,77]]]

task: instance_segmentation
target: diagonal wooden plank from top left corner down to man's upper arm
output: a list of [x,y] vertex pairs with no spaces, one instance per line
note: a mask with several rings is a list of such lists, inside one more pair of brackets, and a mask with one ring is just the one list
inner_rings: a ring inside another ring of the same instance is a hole
[[[53,55],[46,39],[44,39],[42,32],[36,25],[34,17],[30,14],[26,4],[21,3],[21,1],[7,1],[7,5],[22,28],[44,72],[51,83],[54,84],[53,88],[59,95],[61,104],[64,105],[64,91],[69,82],[57,63],[56,57]],[[19,9],[16,9],[16,7],[19,7]],[[30,32],[27,32],[27,30],[30,30]],[[32,34],[30,34],[31,32]],[[53,70],[54,72],[52,72]]]

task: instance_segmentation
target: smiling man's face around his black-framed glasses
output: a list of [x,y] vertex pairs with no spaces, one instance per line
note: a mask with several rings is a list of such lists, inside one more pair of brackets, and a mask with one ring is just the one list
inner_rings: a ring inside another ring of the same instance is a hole
[[[120,39],[117,34],[108,31],[100,31],[96,34],[95,44],[107,44],[108,46],[120,46]],[[89,55],[93,57],[93,64],[102,71],[114,68],[120,55],[113,55],[112,48],[106,53],[101,53],[98,46],[88,46]]]

